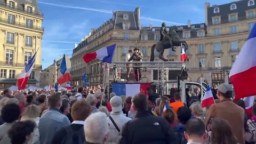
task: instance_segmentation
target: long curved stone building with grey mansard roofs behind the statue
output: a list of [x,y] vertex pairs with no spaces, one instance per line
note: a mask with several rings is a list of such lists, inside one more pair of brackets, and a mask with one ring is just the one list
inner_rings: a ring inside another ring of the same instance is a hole
[[[182,30],[179,34],[180,38],[189,45],[186,52],[189,81],[204,81],[210,85],[229,82],[228,74],[231,66],[255,23],[255,8],[254,0],[212,6],[210,3],[205,3],[205,22],[193,24],[189,20],[187,25],[179,26]],[[130,19],[132,16],[130,14],[137,15],[138,21],[133,22],[134,19]],[[101,84],[100,62],[94,60],[86,65],[83,55],[102,46],[116,43],[114,61],[125,61],[125,54],[130,49],[133,50],[136,45],[134,41],[137,40],[137,46],[144,55],[143,61],[149,61],[151,46],[159,41],[161,27],[150,25],[138,29],[139,25],[136,25],[136,29],[131,29],[135,24],[140,23],[139,17],[139,8],[134,12],[117,11],[113,13],[113,18],[107,24],[104,23],[100,28],[92,29],[92,35],[73,50],[71,75],[77,77],[74,79],[75,85],[82,85],[81,77],[86,71],[90,75],[91,85]],[[101,30],[108,26],[113,26],[113,28],[103,33]],[[170,27],[166,29],[169,30]],[[165,50],[164,57],[172,61],[180,61],[180,47],[177,48],[177,52]],[[158,52],[154,53],[155,61],[159,61]],[[123,77],[124,75],[125,71],[123,71]],[[142,77],[147,77],[151,82],[154,82],[154,75],[153,70],[145,70],[142,73]],[[174,79],[175,77],[170,80]]]

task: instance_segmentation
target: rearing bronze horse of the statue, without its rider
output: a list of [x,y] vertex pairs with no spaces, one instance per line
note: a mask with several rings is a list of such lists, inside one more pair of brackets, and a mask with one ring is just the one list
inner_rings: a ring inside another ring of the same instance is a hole
[[[169,30],[169,37],[172,38],[173,46],[181,46],[181,44],[182,44],[182,46],[185,47],[185,52],[186,52],[187,49],[188,49],[188,44],[186,43],[186,41],[181,41],[180,40],[179,33],[181,33],[181,32],[182,32],[182,30],[180,30],[178,26],[172,26],[172,27],[170,27],[170,30]],[[163,54],[164,54],[165,49],[170,49],[170,48],[171,48],[171,45],[170,45],[169,41],[159,41],[159,42],[157,42],[156,44],[154,44],[151,47],[150,61],[155,60],[155,54],[154,54],[155,49],[159,52],[158,57],[161,60],[168,61],[167,59],[165,59],[163,57]]]

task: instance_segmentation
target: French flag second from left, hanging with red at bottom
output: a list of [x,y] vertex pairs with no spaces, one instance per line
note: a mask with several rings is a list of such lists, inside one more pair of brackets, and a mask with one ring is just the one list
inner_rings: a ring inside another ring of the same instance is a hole
[[59,73],[58,73],[58,83],[59,84],[63,84],[63,83],[66,83],[66,82],[70,82],[72,81],[71,79],[71,75],[69,73],[69,70],[67,68],[67,64],[66,64],[66,57],[65,57],[65,54],[61,60],[61,63],[60,63],[60,70],[59,70]]

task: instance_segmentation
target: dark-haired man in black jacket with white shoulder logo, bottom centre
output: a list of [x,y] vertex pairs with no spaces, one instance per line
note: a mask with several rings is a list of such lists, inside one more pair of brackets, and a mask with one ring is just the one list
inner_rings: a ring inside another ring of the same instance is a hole
[[136,94],[132,103],[137,113],[134,119],[124,125],[121,144],[176,143],[174,130],[169,123],[162,117],[154,116],[151,111],[147,111],[146,95]]

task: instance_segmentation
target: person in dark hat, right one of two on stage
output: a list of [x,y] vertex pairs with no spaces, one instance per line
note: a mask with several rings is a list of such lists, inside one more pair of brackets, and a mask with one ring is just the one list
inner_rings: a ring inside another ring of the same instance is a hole
[[[129,62],[133,60],[133,62],[139,62],[142,61],[143,59],[143,54],[142,52],[140,52],[140,50],[138,49],[138,47],[135,47],[135,49],[133,50],[134,53],[132,54],[131,58],[128,60]],[[134,63],[134,73],[135,73],[135,79],[137,82],[139,82],[141,80],[141,65],[142,63]],[[139,77],[138,77],[138,71],[139,71]]]

